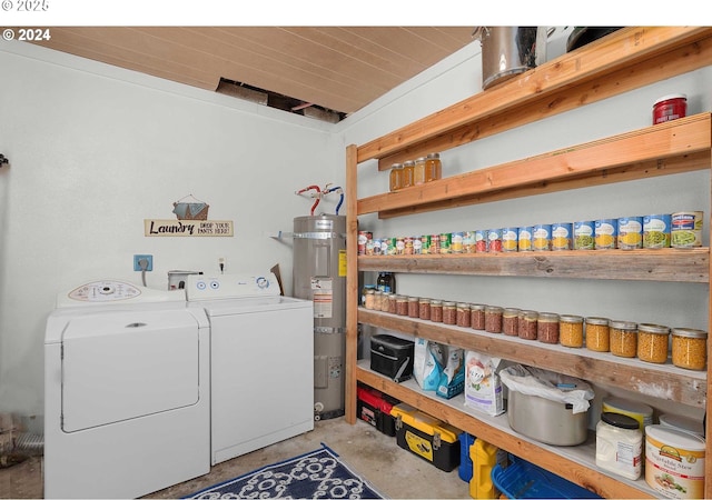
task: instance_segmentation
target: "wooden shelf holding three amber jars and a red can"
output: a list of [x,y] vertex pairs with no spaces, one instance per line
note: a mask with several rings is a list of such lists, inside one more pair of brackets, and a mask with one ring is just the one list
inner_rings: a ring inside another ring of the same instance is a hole
[[[710,168],[711,114],[700,113],[357,202],[382,219]],[[414,203],[417,200],[417,203]]]

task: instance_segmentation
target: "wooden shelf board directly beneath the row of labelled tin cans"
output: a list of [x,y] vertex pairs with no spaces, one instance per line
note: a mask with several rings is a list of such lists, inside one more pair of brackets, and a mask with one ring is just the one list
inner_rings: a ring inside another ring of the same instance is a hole
[[710,249],[358,256],[363,271],[708,283]]

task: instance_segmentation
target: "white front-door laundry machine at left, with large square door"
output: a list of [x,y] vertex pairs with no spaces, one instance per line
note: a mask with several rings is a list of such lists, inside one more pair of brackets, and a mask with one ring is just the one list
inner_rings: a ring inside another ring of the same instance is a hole
[[208,473],[209,340],[182,291],[61,293],[44,338],[44,497],[137,498]]

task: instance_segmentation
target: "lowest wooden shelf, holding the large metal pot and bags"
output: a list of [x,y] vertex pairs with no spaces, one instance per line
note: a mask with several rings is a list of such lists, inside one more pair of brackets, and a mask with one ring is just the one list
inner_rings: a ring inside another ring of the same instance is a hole
[[464,397],[446,400],[434,392],[421,390],[414,380],[396,383],[368,368],[367,361],[360,361],[356,370],[359,382],[416,407],[426,413],[435,414],[456,428],[469,432],[487,442],[497,443],[517,457],[555,471],[558,476],[576,482],[604,498],[656,498],[644,478],[630,481],[611,476],[595,466],[595,437],[577,447],[553,447],[534,441],[510,428],[506,414],[491,417],[467,408]]

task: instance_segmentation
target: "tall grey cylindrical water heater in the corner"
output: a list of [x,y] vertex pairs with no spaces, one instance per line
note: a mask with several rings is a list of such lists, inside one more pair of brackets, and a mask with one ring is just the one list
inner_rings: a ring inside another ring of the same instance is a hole
[[346,217],[294,220],[294,296],[314,301],[314,419],[344,414]]

